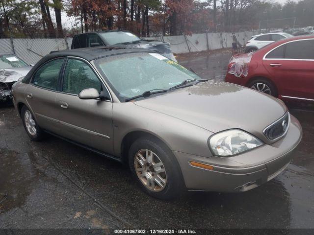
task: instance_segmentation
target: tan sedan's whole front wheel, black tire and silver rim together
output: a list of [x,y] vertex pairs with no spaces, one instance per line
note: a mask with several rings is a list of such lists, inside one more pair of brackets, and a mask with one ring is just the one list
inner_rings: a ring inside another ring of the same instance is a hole
[[183,191],[183,177],[175,156],[156,138],[140,138],[132,143],[129,166],[138,186],[152,197],[169,200]]

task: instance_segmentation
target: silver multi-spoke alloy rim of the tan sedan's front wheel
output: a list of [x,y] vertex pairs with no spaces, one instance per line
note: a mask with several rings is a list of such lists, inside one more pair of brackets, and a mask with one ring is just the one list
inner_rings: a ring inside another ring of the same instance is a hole
[[134,156],[136,175],[151,191],[161,191],[167,184],[166,169],[160,158],[151,150],[141,149]]

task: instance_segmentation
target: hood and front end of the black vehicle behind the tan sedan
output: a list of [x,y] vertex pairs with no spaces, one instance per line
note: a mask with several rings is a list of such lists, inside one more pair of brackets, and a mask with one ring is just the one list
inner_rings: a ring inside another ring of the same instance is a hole
[[115,44],[114,46],[148,49],[148,50],[156,51],[171,60],[177,61],[171,51],[171,47],[169,43],[163,43],[160,41],[141,40],[136,43]]

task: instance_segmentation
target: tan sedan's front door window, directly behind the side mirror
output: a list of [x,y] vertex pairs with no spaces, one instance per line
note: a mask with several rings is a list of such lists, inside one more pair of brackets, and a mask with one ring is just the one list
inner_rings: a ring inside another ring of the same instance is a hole
[[85,62],[69,59],[64,71],[62,91],[69,94],[79,94],[87,88],[95,88],[101,92],[101,81]]

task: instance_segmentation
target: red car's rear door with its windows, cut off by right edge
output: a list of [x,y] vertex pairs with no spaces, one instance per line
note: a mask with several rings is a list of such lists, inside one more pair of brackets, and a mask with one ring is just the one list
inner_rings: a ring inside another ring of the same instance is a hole
[[314,99],[314,39],[286,43],[266,54],[263,65],[286,98]]

